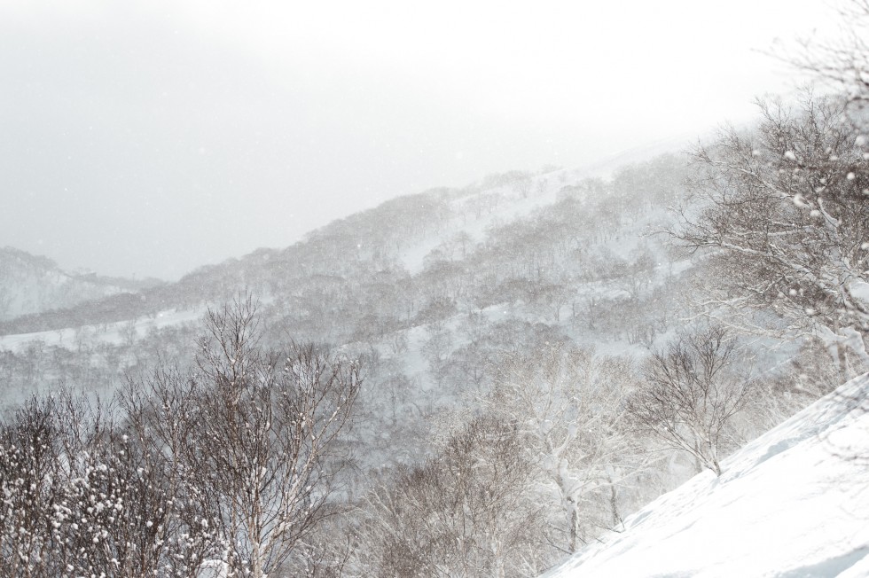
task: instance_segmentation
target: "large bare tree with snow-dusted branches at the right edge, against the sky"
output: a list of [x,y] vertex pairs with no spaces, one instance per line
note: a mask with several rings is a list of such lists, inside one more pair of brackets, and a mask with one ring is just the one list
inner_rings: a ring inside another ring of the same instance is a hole
[[756,312],[771,311],[788,336],[823,340],[846,374],[846,351],[869,365],[869,160],[842,99],[760,110],[755,131],[729,129],[697,149],[700,213],[673,234],[708,259],[708,310],[758,331],[771,325]]

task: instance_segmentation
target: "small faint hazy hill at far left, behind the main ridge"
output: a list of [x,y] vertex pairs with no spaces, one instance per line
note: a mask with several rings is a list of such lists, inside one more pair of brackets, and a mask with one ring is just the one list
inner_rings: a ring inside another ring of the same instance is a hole
[[0,321],[66,309],[116,293],[135,293],[159,283],[70,273],[47,257],[7,246],[0,248]]

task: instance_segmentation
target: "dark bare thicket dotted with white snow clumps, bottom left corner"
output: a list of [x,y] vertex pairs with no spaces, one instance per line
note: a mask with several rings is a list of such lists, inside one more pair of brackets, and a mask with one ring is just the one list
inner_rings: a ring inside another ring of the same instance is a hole
[[214,543],[161,451],[66,390],[0,426],[0,552],[15,577],[198,574]]

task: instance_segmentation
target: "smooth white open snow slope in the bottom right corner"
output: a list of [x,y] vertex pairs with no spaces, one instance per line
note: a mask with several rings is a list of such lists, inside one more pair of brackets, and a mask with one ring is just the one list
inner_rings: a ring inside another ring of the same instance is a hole
[[867,396],[869,374],[728,457],[721,478],[698,474],[544,576],[869,576]]

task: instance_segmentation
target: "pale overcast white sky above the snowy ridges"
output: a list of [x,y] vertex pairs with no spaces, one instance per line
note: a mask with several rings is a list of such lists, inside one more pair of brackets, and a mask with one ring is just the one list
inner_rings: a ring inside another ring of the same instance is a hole
[[818,0],[0,0],[0,246],[180,277],[399,194],[748,121]]

